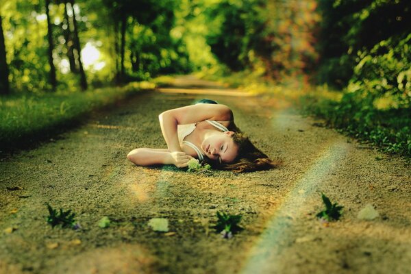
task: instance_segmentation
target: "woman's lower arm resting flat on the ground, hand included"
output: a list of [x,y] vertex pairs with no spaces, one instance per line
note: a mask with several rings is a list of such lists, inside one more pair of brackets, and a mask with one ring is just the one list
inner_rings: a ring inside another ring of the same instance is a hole
[[174,164],[177,167],[185,167],[192,157],[184,152],[170,152],[168,149],[140,148],[130,151],[127,158],[139,166]]

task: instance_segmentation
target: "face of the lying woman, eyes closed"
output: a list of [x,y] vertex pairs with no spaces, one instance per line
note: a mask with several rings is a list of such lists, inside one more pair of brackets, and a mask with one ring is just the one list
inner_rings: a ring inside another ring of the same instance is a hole
[[228,164],[233,162],[238,155],[238,145],[234,142],[234,132],[219,132],[205,138],[201,149],[211,160]]

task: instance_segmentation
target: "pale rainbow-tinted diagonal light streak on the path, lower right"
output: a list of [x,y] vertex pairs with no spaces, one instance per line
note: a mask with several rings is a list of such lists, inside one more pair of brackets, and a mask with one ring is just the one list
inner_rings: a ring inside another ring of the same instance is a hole
[[299,219],[302,214],[310,212],[312,205],[307,198],[316,193],[316,188],[325,182],[330,172],[338,171],[338,162],[344,157],[347,148],[345,144],[335,143],[321,151],[317,160],[309,166],[302,177],[292,186],[284,201],[277,208],[273,219],[266,224],[266,229],[251,249],[251,253],[241,273],[267,273],[267,271],[281,271],[277,268],[282,264],[277,255],[282,253],[284,242],[292,241],[288,235],[291,220]]

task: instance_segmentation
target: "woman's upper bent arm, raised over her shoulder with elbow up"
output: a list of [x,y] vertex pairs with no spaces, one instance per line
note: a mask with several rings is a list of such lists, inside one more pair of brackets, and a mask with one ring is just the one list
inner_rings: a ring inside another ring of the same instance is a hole
[[231,121],[232,110],[227,105],[199,103],[162,112],[158,116],[164,140],[170,151],[182,151],[177,136],[177,125],[197,123],[204,120]]

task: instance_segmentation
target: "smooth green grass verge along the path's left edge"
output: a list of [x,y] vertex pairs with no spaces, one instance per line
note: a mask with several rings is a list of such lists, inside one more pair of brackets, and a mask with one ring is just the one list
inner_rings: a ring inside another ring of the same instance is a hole
[[0,151],[45,140],[77,125],[92,110],[153,87],[141,82],[87,92],[16,93],[0,97]]

